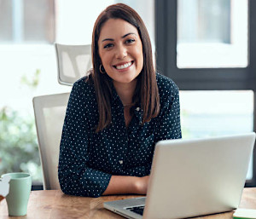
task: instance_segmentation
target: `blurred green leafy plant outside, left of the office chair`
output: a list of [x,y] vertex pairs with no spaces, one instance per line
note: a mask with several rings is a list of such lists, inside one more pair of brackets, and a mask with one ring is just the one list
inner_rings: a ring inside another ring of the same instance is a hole
[[[40,71],[36,70],[29,79],[23,76],[20,84],[33,91],[38,86],[39,75]],[[11,107],[2,107],[0,108],[0,176],[3,173],[20,171],[32,173],[33,181],[42,181],[34,116],[30,113],[21,115]]]

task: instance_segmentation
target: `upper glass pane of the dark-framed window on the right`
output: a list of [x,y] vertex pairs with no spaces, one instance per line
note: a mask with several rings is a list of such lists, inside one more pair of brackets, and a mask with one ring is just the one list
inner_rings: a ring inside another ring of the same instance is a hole
[[177,67],[246,67],[246,0],[179,0]]

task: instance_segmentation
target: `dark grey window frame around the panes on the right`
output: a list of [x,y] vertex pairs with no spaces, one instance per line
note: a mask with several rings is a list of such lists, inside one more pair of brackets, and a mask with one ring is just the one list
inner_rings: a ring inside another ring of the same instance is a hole
[[[181,90],[251,89],[256,101],[256,1],[248,0],[248,66],[232,68],[177,68],[177,0],[155,1],[156,70]],[[170,13],[170,11],[172,13]],[[169,13],[168,13],[169,12]],[[255,72],[253,74],[253,72]],[[253,107],[253,131],[256,131],[256,105]],[[256,150],[253,150],[253,179],[246,187],[256,186]]]

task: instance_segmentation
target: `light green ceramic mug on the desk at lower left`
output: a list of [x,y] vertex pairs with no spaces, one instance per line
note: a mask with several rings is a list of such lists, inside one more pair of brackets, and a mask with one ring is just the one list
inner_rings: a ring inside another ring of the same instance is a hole
[[9,216],[25,216],[27,203],[32,187],[32,176],[29,173],[7,173],[10,176],[9,194],[6,196]]

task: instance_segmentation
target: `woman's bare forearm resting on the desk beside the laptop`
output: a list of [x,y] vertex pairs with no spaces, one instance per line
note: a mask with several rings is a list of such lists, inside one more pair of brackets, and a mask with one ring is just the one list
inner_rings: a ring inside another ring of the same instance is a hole
[[108,187],[103,195],[125,193],[145,194],[147,193],[147,187],[148,176],[111,176]]

